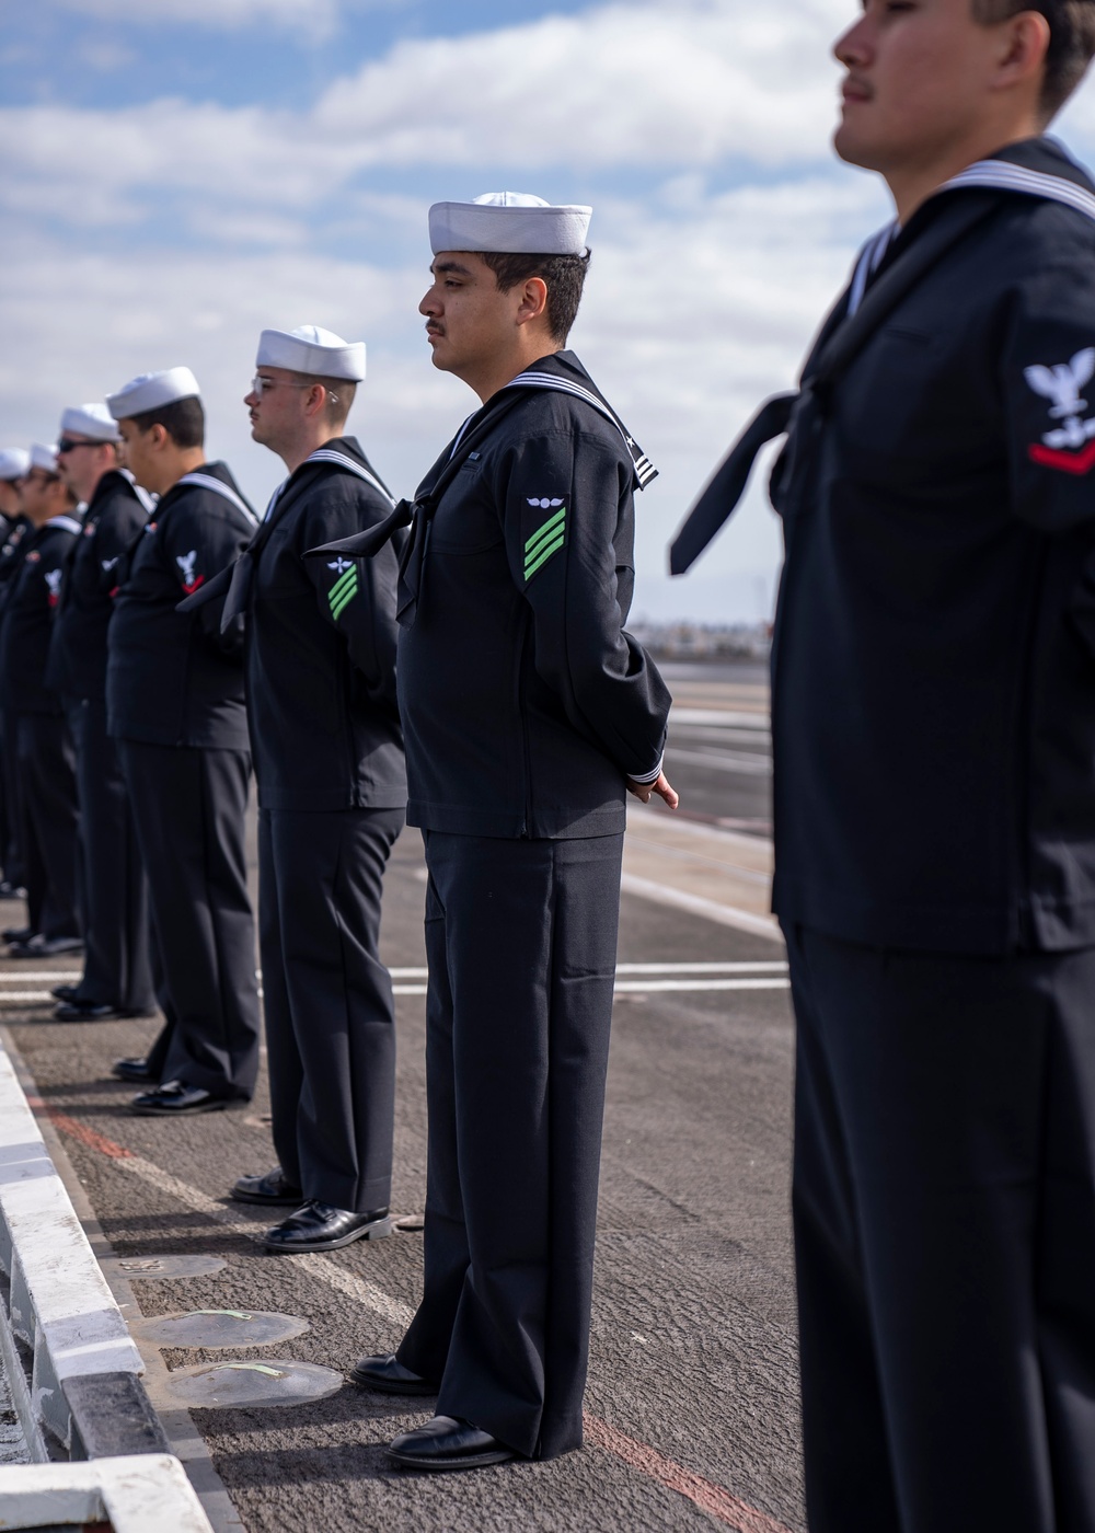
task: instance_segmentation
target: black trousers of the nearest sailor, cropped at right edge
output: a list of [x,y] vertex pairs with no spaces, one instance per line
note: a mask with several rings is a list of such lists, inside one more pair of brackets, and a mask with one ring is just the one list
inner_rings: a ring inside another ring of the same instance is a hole
[[811,1533],[1090,1533],[1095,950],[788,949]]

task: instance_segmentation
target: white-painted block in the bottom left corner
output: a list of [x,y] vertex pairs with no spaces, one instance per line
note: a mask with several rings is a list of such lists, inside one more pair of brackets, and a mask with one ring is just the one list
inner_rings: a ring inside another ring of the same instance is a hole
[[113,1533],[212,1533],[170,1453],[90,1464],[18,1464],[0,1478],[0,1528],[109,1521]]

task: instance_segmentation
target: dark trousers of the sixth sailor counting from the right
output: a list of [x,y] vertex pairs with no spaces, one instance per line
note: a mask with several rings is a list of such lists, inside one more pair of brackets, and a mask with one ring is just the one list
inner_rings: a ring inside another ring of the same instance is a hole
[[63,714],[20,713],[15,750],[29,924],[44,937],[78,937],[77,757]]

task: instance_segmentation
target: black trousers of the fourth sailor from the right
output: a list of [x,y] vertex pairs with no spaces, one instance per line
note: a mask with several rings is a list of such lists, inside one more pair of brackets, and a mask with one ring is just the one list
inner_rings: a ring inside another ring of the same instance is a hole
[[248,1099],[259,1065],[244,812],[250,754],[117,740],[141,849],[170,1035],[161,1081]]

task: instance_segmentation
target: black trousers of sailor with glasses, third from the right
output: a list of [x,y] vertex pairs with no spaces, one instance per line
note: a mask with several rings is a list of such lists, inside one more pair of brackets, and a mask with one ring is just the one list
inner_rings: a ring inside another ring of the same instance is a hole
[[259,949],[273,1142],[334,1208],[391,1202],[396,1015],[380,895],[402,809],[259,812]]

